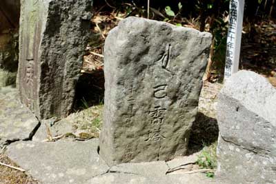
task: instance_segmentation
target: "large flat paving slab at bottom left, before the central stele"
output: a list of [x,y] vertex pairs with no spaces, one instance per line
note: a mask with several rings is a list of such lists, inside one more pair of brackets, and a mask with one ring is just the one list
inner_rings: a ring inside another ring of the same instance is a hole
[[28,141],[13,143],[6,154],[41,183],[83,184],[108,171],[97,147],[97,139],[54,143]]

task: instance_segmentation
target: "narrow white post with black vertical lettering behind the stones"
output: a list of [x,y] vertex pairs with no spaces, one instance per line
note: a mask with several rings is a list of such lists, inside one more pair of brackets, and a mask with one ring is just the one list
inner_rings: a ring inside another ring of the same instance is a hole
[[224,70],[225,80],[239,70],[243,19],[244,0],[230,0],[226,63]]

